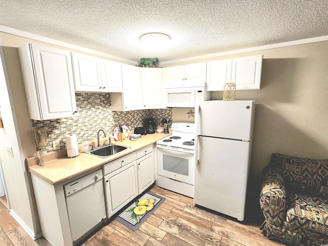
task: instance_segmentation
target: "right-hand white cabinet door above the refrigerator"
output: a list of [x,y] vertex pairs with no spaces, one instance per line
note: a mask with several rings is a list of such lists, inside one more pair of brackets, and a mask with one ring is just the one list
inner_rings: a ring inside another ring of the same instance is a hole
[[259,90],[261,71],[262,55],[232,59],[232,80],[236,90]]

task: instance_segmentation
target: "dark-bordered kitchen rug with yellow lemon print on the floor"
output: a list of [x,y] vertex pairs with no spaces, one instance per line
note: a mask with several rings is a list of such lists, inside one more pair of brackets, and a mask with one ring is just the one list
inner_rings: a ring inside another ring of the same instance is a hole
[[135,231],[165,200],[164,197],[147,192],[134,200],[115,220]]

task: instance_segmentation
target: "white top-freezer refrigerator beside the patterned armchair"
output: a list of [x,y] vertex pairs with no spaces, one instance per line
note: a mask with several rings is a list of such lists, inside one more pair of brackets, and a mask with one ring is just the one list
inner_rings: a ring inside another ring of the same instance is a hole
[[202,101],[195,106],[194,202],[244,220],[255,101]]

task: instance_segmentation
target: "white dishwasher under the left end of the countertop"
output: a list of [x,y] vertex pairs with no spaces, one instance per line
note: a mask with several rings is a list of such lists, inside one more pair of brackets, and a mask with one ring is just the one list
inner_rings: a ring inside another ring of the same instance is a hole
[[106,218],[103,171],[97,170],[64,185],[74,241],[104,223]]

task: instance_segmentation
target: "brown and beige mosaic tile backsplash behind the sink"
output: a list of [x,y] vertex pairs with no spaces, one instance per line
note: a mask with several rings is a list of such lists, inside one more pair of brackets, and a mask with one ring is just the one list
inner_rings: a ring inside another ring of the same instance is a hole
[[[133,110],[127,112],[112,111],[109,93],[75,93],[77,115],[69,118],[52,120],[33,120],[32,128],[45,128],[47,146],[45,152],[52,151],[52,141],[59,139],[60,149],[66,147],[65,136],[76,134],[78,145],[84,141],[97,138],[99,129],[103,129],[107,136],[118,125],[127,125],[129,130],[142,126],[145,118],[155,118],[157,126],[161,126],[162,118],[172,119],[172,109]],[[38,151],[38,148],[36,148]]]

